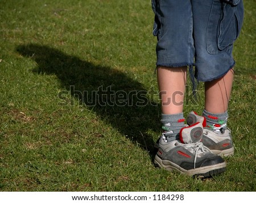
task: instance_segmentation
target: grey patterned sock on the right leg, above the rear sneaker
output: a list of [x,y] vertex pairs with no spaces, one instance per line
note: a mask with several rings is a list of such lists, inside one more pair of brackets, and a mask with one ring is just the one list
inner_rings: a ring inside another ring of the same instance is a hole
[[206,119],[207,127],[216,133],[222,133],[223,129],[227,128],[226,122],[228,121],[228,111],[224,113],[210,113],[204,109],[203,116]]

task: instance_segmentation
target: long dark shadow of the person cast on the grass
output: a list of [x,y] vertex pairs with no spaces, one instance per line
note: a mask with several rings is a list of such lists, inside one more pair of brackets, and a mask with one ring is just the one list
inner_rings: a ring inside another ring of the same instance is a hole
[[79,99],[154,157],[155,141],[147,132],[159,132],[159,106],[148,98],[141,83],[112,67],[93,65],[48,46],[19,45],[16,50],[35,60],[35,73],[59,78],[63,91],[56,105],[73,105],[68,98]]

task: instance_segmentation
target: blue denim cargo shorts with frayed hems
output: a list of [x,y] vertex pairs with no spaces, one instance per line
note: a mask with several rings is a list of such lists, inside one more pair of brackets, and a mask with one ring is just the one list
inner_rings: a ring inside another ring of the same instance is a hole
[[195,66],[195,77],[204,82],[222,77],[234,66],[242,0],[152,0],[152,9],[156,66]]

